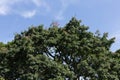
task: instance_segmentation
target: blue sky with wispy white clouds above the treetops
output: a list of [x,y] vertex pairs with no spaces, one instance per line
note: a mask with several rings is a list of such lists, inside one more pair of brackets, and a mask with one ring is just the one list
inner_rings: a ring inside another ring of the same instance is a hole
[[120,0],[0,0],[0,41],[11,41],[32,25],[63,26],[73,16],[92,32],[116,37],[112,51],[120,48]]

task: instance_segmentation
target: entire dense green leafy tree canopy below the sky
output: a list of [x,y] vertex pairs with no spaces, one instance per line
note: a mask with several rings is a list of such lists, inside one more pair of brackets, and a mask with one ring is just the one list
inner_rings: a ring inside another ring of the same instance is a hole
[[0,80],[119,80],[120,50],[110,51],[114,39],[90,32],[75,17],[64,27],[32,26],[0,43]]

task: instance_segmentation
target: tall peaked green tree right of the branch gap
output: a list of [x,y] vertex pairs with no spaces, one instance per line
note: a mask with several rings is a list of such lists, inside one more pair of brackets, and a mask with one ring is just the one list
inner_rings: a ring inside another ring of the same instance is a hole
[[99,80],[108,79],[108,55],[114,38],[108,40],[107,33],[101,37],[99,34],[95,35],[80,23],[81,21],[73,17],[63,28],[50,28],[53,34],[50,34],[48,41],[54,50],[55,61],[67,64],[76,78],[84,76],[92,79],[97,77]]

